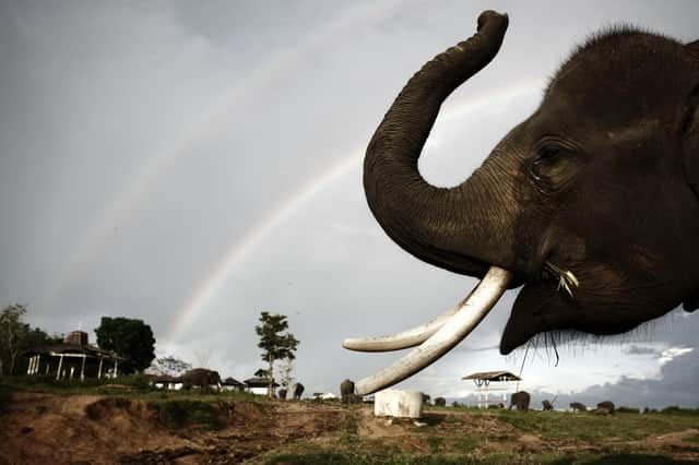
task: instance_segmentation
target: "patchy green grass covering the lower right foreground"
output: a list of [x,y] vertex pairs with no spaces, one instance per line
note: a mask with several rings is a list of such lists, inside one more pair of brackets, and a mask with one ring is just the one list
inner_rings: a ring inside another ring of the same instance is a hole
[[289,444],[265,464],[674,464],[699,463],[699,412],[592,413],[431,407],[406,434],[372,438],[357,420],[337,437]]

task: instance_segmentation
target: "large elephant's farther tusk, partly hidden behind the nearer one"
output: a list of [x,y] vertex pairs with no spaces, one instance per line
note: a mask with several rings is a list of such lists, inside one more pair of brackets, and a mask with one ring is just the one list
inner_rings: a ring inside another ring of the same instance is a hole
[[[473,294],[473,291],[471,291]],[[454,307],[450,308],[433,321],[415,326],[401,333],[391,334],[389,336],[367,337],[367,338],[350,338],[342,343],[342,346],[350,350],[357,351],[390,351],[400,350],[408,347],[415,347],[427,341],[441,326],[451,319],[461,307],[471,297],[469,294]]]

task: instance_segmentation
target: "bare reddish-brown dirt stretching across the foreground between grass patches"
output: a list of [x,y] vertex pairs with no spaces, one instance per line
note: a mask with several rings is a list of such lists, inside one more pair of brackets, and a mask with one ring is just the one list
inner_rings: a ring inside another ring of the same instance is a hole
[[[546,441],[495,417],[428,410],[422,424],[375,418],[371,406],[315,402],[213,404],[220,427],[173,428],[145,402],[96,395],[15,393],[0,424],[0,464],[230,464],[254,462],[295,444],[332,448],[352,431],[396,450],[428,454],[435,437],[469,431],[488,438],[483,453],[592,450],[594,443]],[[644,450],[699,460],[698,429],[638,441]],[[478,439],[482,442],[481,439]],[[443,448],[443,445],[442,445]]]

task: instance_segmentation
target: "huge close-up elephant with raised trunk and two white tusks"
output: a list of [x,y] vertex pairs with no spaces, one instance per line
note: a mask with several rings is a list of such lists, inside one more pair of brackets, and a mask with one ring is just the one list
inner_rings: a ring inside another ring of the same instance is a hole
[[483,12],[471,38],[410,79],[368,144],[365,194],[387,235],[419,260],[482,281],[430,323],[345,339],[363,351],[419,345],[359,380],[359,394],[439,359],[506,289],[521,288],[502,355],[699,308],[699,40],[601,32],[463,182],[442,188],[420,176],[442,102],[495,58],[508,24],[507,14]]

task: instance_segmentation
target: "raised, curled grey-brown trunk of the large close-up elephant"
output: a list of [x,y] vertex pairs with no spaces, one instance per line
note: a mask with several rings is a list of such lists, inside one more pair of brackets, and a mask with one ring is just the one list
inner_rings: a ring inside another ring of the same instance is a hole
[[508,16],[488,11],[478,32],[426,63],[400,93],[374,138],[364,163],[364,188],[371,212],[386,233],[417,258],[457,273],[483,276],[506,253],[494,245],[497,212],[478,207],[484,193],[503,187],[491,181],[495,168],[481,169],[454,188],[426,182],[417,159],[442,102],[498,52]]

